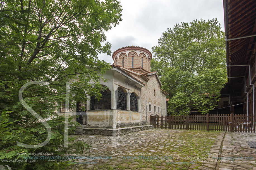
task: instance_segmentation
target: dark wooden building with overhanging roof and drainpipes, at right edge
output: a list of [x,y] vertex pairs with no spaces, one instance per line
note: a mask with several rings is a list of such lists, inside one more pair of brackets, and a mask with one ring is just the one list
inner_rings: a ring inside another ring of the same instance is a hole
[[[231,113],[255,114],[256,98],[256,1],[223,0],[226,60]],[[235,106],[234,106],[235,105]]]

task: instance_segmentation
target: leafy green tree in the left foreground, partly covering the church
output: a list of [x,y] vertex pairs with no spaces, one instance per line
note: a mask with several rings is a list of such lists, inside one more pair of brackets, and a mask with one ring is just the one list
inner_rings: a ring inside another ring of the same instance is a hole
[[[58,116],[58,104],[65,101],[66,82],[70,82],[70,103],[86,101],[86,95],[101,97],[98,80],[110,68],[98,59],[99,53],[111,54],[111,43],[101,45],[109,31],[121,21],[121,5],[116,0],[1,1],[0,5],[0,164],[3,159],[28,159],[30,152],[48,152],[51,156],[83,152],[88,145],[68,138],[63,146],[64,117]],[[75,81],[79,80],[79,81]],[[25,148],[47,139],[47,129],[23,107],[23,100],[51,127],[51,139],[45,146]],[[94,82],[94,83],[89,83]],[[88,92],[88,93],[86,93]],[[71,107],[75,104],[72,103]],[[71,119],[70,119],[71,120]],[[69,125],[75,125],[69,122]],[[69,130],[74,128],[70,126]],[[71,144],[71,142],[73,142]],[[27,155],[19,155],[19,153]],[[8,162],[12,169],[58,169],[61,163]]]

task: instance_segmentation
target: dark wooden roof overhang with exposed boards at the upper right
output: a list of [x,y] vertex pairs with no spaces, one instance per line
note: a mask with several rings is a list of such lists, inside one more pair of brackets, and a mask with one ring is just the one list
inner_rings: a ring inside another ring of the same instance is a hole
[[[256,34],[256,1],[223,0],[223,5],[227,65],[249,65],[256,42],[253,36]],[[248,66],[227,66],[228,77],[246,76],[247,69]],[[244,79],[229,78],[228,81]]]

